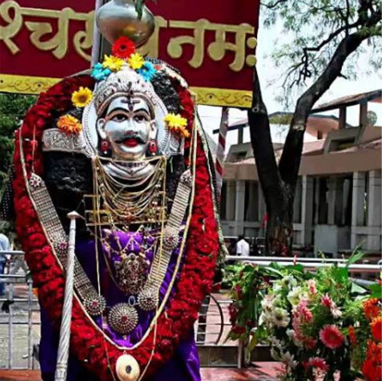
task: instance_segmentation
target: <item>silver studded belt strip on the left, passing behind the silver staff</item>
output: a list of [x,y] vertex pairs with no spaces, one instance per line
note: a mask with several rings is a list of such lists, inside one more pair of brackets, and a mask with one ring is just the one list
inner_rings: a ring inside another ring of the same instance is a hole
[[[41,177],[32,174],[29,187],[39,219],[44,225],[48,238],[65,268],[68,236],[62,227],[45,182]],[[102,315],[106,308],[106,301],[93,287],[77,257],[74,258],[74,287],[83,300],[87,312],[92,316]]]

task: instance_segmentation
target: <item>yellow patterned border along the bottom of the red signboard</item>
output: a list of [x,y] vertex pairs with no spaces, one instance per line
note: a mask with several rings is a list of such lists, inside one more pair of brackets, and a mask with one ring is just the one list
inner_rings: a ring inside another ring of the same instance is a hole
[[[0,74],[0,92],[39,94],[56,84],[60,78],[14,76]],[[198,104],[209,106],[251,107],[252,93],[226,88],[191,87]]]

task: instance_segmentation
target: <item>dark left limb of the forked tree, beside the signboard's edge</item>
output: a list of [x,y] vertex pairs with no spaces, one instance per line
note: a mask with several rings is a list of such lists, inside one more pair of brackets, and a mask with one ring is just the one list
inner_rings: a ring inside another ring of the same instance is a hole
[[251,143],[256,160],[257,173],[263,189],[267,207],[280,206],[282,190],[280,175],[270,134],[269,116],[262,100],[261,86],[256,68],[253,79],[252,108],[248,110]]

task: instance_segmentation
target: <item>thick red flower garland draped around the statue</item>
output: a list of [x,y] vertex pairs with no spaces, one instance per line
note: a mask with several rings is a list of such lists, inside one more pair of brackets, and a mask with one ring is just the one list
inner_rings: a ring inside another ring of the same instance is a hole
[[[173,80],[173,82],[180,96],[181,114],[188,119],[188,129],[191,132],[194,115],[191,95],[178,81]],[[21,134],[28,178],[32,168],[37,174],[43,174],[42,133],[52,124],[57,111],[65,112],[72,107],[71,94],[80,86],[93,88],[94,82],[89,76],[65,79],[50,88],[47,93],[42,93],[35,106],[26,115]],[[17,132],[14,156],[16,175],[13,182],[16,229],[26,252],[34,286],[39,289],[39,299],[52,321],[58,326],[62,314],[65,280],[29,199],[21,163],[19,138],[20,133]],[[186,151],[189,147],[190,142],[186,141]],[[144,370],[151,360],[145,377],[151,376],[172,357],[174,348],[192,328],[204,296],[212,289],[219,239],[210,181],[206,154],[198,137],[196,195],[189,226],[185,263],[176,286],[176,294],[166,314],[162,313],[158,319],[156,337],[154,338],[152,331],[141,346],[129,352],[139,362],[141,370]],[[102,333],[87,318],[76,299],[73,304],[71,333],[71,348],[76,357],[101,380],[112,379],[108,368],[109,362],[114,371],[115,363],[123,351],[105,340]],[[153,344],[155,352],[152,356]]]

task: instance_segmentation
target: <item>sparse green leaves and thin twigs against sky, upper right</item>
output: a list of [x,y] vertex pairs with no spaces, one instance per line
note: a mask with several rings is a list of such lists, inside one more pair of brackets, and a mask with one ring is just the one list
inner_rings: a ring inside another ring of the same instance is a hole
[[343,76],[356,78],[356,61],[366,48],[371,49],[371,64],[380,67],[381,11],[381,2],[372,0],[264,0],[261,12],[265,26],[281,24],[283,28],[283,43],[275,44],[272,52],[275,64],[285,68],[283,88],[289,96],[283,96],[283,101],[290,101],[291,88],[298,90],[322,74],[349,34],[359,33],[367,39],[367,45],[347,59]]

